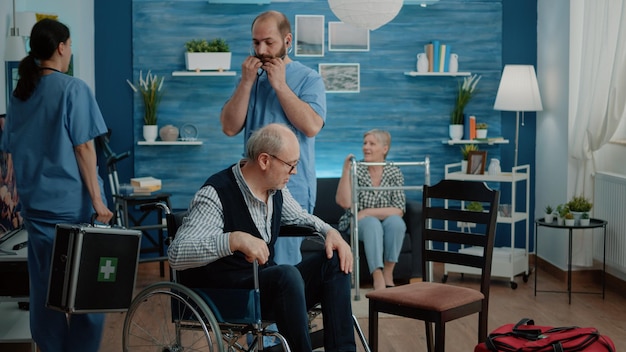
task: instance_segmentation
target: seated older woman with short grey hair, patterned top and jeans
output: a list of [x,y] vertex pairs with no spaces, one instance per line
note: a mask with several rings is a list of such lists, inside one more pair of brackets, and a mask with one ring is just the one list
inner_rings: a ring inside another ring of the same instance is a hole
[[[363,136],[363,161],[384,162],[390,145],[389,132],[377,129],[366,132]],[[346,209],[339,221],[340,231],[346,231],[350,227],[350,159],[353,157],[354,155],[349,154],[343,163],[335,196],[337,204]],[[358,164],[357,181],[359,187],[399,187],[404,185],[404,176],[397,166]],[[363,241],[375,290],[394,286],[393,269],[398,262],[406,232],[406,224],[402,219],[405,207],[406,197],[403,190],[359,191],[359,240]]]

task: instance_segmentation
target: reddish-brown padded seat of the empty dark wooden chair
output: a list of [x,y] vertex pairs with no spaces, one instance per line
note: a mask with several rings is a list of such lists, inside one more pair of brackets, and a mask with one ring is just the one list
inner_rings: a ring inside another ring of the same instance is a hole
[[475,289],[437,282],[415,282],[368,292],[370,300],[405,307],[443,312],[468,303],[480,301],[485,296]]

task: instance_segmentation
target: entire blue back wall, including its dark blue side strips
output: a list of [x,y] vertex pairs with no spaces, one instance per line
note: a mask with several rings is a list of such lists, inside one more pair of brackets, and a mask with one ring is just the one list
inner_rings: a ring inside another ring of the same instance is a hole
[[[171,72],[184,69],[186,40],[216,36],[230,42],[232,70],[239,71],[249,51],[250,23],[267,9],[285,12],[292,26],[295,15],[324,15],[325,23],[337,21],[322,0],[261,6],[195,0],[95,0],[96,97],[113,129],[111,147],[133,153],[118,165],[121,180],[145,174],[160,177],[164,189],[174,194],[174,206],[186,208],[207,176],[241,156],[242,137],[226,137],[219,125],[219,110],[238,77],[183,78],[172,77]],[[515,116],[493,111],[493,101],[504,64],[536,64],[536,26],[535,0],[441,0],[427,8],[404,6],[392,22],[371,32],[369,52],[329,52],[326,42],[324,57],[292,54],[292,59],[312,68],[318,63],[359,63],[361,67],[360,93],[327,95],[327,124],[317,137],[318,176],[338,176],[347,153],[360,156],[362,134],[370,128],[386,128],[392,133],[391,160],[429,155],[433,183],[443,177],[444,164],[460,159],[458,146],[442,145],[441,140],[447,138],[448,113],[461,78],[403,74],[415,70],[415,55],[433,39],[453,46],[452,51],[459,54],[460,71],[483,76],[480,93],[468,112],[490,124],[491,136],[511,140],[509,145],[484,147],[488,158],[501,158],[503,170],[510,169]],[[142,110],[137,99],[133,105],[125,80],[136,79],[139,70],[147,69],[166,76],[159,124],[196,124],[202,146],[137,145]],[[530,163],[533,174],[534,126],[534,114],[526,114],[519,150],[520,163]],[[106,170],[101,172],[106,177]],[[407,177],[420,182],[418,178],[417,174]],[[532,199],[531,182],[531,216]]]

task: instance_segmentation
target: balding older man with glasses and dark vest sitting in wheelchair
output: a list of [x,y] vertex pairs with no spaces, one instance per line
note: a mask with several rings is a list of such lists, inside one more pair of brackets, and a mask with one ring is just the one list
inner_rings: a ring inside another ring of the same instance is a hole
[[[194,196],[170,245],[169,262],[188,287],[250,289],[258,280],[263,319],[276,322],[294,351],[312,350],[307,312],[321,303],[324,350],[355,351],[352,252],[336,230],[303,210],[285,188],[299,156],[298,140],[286,126],[255,131],[246,158],[209,177]],[[295,266],[276,265],[279,228],[291,224],[324,234],[325,250]]]

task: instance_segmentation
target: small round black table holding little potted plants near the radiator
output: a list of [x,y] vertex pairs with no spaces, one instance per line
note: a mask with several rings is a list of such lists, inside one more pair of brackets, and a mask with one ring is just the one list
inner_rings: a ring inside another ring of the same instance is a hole
[[[535,220],[535,296],[537,296],[537,292],[554,292],[554,293],[565,293],[568,294],[569,304],[572,304],[572,231],[575,229],[593,229],[602,227],[603,228],[603,237],[602,237],[602,299],[604,299],[604,291],[606,287],[606,220],[601,219],[590,219],[588,226],[566,226],[566,225],[558,225],[556,220],[550,223],[547,223],[544,218]],[[548,291],[548,290],[537,290],[537,276],[539,271],[537,270],[537,253],[539,253],[539,242],[537,241],[538,228],[539,227],[552,227],[557,229],[566,229],[569,230],[569,240],[568,240],[568,257],[567,257],[567,291]],[[573,292],[573,293],[591,293],[591,294],[600,294],[600,292]]]

